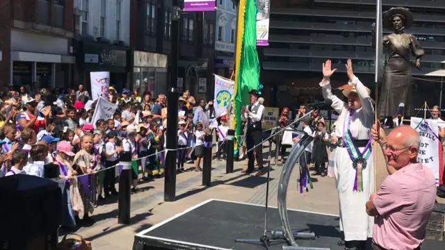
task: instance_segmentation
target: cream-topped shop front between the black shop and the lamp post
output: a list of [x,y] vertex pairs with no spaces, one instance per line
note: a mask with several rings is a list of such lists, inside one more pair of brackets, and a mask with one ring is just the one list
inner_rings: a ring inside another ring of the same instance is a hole
[[152,92],[152,97],[165,94],[168,86],[168,56],[160,53],[133,51],[133,74],[130,87],[141,94]]

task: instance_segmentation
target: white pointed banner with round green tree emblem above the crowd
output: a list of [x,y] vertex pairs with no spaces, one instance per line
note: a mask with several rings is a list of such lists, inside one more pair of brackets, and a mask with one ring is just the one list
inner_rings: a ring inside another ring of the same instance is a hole
[[227,78],[215,75],[215,101],[213,107],[215,114],[222,114],[234,95],[235,82]]

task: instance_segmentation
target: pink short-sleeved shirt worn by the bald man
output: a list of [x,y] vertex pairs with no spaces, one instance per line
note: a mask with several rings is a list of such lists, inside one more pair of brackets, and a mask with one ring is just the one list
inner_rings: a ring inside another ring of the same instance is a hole
[[373,204],[378,211],[373,242],[388,250],[412,250],[425,238],[436,199],[435,177],[421,163],[387,176]]

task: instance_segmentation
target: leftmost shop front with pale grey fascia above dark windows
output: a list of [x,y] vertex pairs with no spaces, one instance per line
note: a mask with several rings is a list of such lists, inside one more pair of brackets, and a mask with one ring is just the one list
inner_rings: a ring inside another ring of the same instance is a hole
[[68,38],[12,30],[10,87],[69,88],[75,62],[70,54]]

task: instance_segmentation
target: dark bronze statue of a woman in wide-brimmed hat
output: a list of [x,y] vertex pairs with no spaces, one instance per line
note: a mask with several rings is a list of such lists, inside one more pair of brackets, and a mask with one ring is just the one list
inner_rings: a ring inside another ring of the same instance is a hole
[[[394,31],[385,35],[382,41],[388,51],[388,60],[383,72],[378,116],[387,117],[387,126],[393,126],[392,117],[397,115],[400,103],[405,103],[405,115],[412,115],[413,111],[410,53],[416,57],[414,66],[420,69],[421,56],[425,52],[414,35],[405,33],[405,28],[410,28],[412,21],[412,13],[407,8],[391,8],[382,15],[382,26]],[[373,37],[375,47],[375,24]]]

